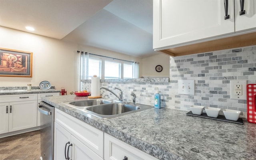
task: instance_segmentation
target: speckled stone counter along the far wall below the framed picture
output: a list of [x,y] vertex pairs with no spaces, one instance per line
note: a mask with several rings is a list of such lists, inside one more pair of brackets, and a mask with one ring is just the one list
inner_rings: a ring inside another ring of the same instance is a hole
[[27,87],[0,87],[0,95],[11,94],[36,94],[36,93],[56,93],[60,90],[55,90],[54,86],[51,86],[48,90],[41,90],[39,87],[32,87],[32,90],[27,90]]

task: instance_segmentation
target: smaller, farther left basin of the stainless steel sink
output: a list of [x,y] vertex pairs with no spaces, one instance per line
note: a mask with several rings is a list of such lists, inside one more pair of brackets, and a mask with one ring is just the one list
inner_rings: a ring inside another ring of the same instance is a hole
[[112,102],[113,102],[112,100],[94,99],[94,100],[82,100],[82,101],[69,102],[69,104],[78,106],[78,107],[86,107],[86,106],[96,106],[100,104],[109,104]]

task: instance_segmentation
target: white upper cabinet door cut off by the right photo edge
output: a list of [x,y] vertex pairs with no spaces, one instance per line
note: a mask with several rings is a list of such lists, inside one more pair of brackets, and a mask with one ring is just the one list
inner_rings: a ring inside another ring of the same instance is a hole
[[235,0],[236,32],[256,29],[256,0],[244,1],[245,14],[240,15],[240,0]]

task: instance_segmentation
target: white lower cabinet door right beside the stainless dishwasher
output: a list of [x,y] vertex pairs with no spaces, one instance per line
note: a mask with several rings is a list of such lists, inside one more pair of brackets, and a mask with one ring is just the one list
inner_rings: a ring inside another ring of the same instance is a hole
[[[54,160],[66,159],[65,154],[67,156],[68,145],[71,144],[70,136],[71,135],[67,130],[54,122]],[[71,149],[69,151],[69,156],[71,157]]]

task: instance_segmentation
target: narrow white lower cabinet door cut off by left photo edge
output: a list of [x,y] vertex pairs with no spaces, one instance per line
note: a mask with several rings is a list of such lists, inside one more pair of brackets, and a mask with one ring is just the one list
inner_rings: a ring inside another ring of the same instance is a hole
[[0,134],[8,132],[9,103],[0,103]]

